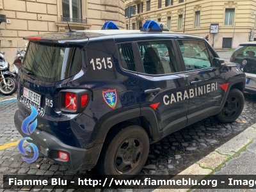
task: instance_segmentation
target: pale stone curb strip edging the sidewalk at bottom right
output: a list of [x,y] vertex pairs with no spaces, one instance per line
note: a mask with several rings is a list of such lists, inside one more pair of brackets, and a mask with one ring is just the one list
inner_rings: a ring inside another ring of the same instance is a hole
[[[252,143],[252,141],[255,139],[256,124],[253,124],[231,140],[227,141],[227,143],[221,145],[221,147],[216,148],[216,150],[214,150],[214,152],[211,152],[211,154],[209,154],[208,156],[205,156],[200,161],[189,166],[183,172],[180,172],[173,179],[177,179],[181,175],[197,175],[198,180],[205,179],[205,175],[212,175],[212,173],[221,168],[221,166],[227,163],[227,161],[229,161],[230,159],[232,159],[232,157],[240,154],[243,148],[247,147],[247,145],[250,145],[250,143]],[[165,189],[164,186],[160,186],[159,188],[155,189],[154,192],[185,192],[190,191],[193,186],[188,187],[190,189]]]

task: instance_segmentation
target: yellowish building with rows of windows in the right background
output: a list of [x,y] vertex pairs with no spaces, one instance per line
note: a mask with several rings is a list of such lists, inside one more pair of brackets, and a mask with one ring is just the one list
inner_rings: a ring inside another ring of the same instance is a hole
[[[145,20],[156,20],[170,31],[209,35],[215,49],[234,49],[250,41],[256,28],[256,0],[128,0],[125,8],[129,3],[136,8],[130,29],[140,29]],[[128,17],[125,24],[129,28]],[[211,24],[219,26],[218,33],[210,33]]]

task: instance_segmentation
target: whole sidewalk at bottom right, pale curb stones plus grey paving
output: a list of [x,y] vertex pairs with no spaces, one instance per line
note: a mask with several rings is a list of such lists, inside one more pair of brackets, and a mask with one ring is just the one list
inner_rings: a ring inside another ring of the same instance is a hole
[[[198,180],[205,175],[256,175],[256,124],[248,127],[232,140],[216,148],[208,156],[175,177],[197,175]],[[211,179],[211,176],[207,177]],[[193,188],[193,186],[188,186]],[[166,189],[164,186],[154,192],[186,192],[186,191],[256,191],[256,189]]]

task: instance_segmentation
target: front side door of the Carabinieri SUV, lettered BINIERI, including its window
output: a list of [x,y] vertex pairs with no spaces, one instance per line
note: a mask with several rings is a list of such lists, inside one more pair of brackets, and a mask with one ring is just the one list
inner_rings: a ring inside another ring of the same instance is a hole
[[184,74],[188,77],[187,125],[190,125],[218,113],[227,82],[223,71],[212,68],[212,60],[216,56],[203,40],[177,40],[177,45],[180,47]]

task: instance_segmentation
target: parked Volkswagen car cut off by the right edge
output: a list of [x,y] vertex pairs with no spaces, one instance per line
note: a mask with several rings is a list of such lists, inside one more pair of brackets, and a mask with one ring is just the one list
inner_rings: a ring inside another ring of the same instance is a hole
[[256,93],[256,42],[240,44],[232,53],[230,61],[243,67],[246,74],[246,92]]

